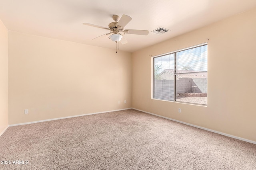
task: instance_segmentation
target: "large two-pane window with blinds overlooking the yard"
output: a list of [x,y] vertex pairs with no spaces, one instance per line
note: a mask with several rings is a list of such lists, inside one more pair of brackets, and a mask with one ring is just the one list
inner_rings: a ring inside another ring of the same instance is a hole
[[152,98],[207,105],[207,56],[205,43],[153,57]]

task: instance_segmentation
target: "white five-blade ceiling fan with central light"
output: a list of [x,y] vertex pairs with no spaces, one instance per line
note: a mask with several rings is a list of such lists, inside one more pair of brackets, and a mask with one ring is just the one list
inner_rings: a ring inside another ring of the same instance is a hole
[[[102,28],[102,29],[107,29],[110,31],[110,33],[106,33],[103,35],[110,35],[109,38],[112,41],[115,41],[116,43],[120,41],[121,44],[126,44],[127,40],[124,38],[124,34],[137,34],[137,35],[148,35],[148,30],[138,30],[138,29],[124,29],[125,25],[127,25],[127,23],[129,23],[132,18],[130,16],[127,15],[122,15],[122,17],[119,20],[119,16],[118,15],[113,15],[112,16],[114,22],[111,22],[108,24],[108,28],[107,27],[102,27],[99,25],[94,25],[91,23],[83,23],[84,25],[89,25],[92,27],[97,27],[97,28]],[[119,20],[119,21],[118,21]],[[100,35],[99,37],[103,36]],[[96,37],[98,38],[98,37]],[[94,39],[96,39],[94,38]]]

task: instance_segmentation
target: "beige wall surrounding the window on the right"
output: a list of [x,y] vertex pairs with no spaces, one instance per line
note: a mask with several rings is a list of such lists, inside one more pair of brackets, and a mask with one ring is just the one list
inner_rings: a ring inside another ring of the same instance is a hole
[[[208,106],[152,100],[150,55],[190,47],[206,39],[210,39]],[[256,141],[255,47],[256,8],[134,52],[132,107]]]

